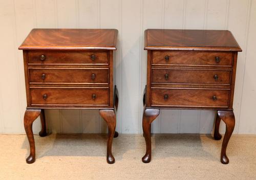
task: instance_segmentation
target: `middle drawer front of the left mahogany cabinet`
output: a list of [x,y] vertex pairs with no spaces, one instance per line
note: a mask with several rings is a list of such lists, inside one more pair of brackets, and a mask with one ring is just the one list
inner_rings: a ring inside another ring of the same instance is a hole
[[29,69],[29,82],[109,84],[109,69]]

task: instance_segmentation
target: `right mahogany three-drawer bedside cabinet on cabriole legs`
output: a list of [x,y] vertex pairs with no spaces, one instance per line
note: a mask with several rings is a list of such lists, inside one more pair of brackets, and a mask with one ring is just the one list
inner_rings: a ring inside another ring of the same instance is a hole
[[226,148],[234,129],[233,95],[237,55],[242,51],[230,31],[145,31],[147,85],[144,94],[144,163],[151,161],[151,123],[160,109],[217,110],[214,138],[220,140],[221,119],[226,132],[221,163],[228,164]]

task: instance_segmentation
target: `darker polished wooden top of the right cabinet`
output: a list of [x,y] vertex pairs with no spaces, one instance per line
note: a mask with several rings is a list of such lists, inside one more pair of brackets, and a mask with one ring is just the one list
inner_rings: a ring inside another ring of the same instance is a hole
[[227,30],[145,30],[144,50],[242,51]]

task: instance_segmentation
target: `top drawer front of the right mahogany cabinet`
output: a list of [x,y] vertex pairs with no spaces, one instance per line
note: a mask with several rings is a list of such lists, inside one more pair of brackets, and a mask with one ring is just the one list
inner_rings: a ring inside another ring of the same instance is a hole
[[153,64],[232,65],[232,53],[193,51],[153,51]]

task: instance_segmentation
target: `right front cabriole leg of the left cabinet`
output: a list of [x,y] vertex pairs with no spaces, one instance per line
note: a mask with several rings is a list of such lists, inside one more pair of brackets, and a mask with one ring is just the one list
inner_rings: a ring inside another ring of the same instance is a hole
[[108,124],[109,127],[108,143],[106,146],[106,161],[109,164],[113,164],[115,163],[115,158],[112,155],[112,142],[116,129],[115,111],[113,109],[100,109],[99,114],[106,121],[106,124]]

